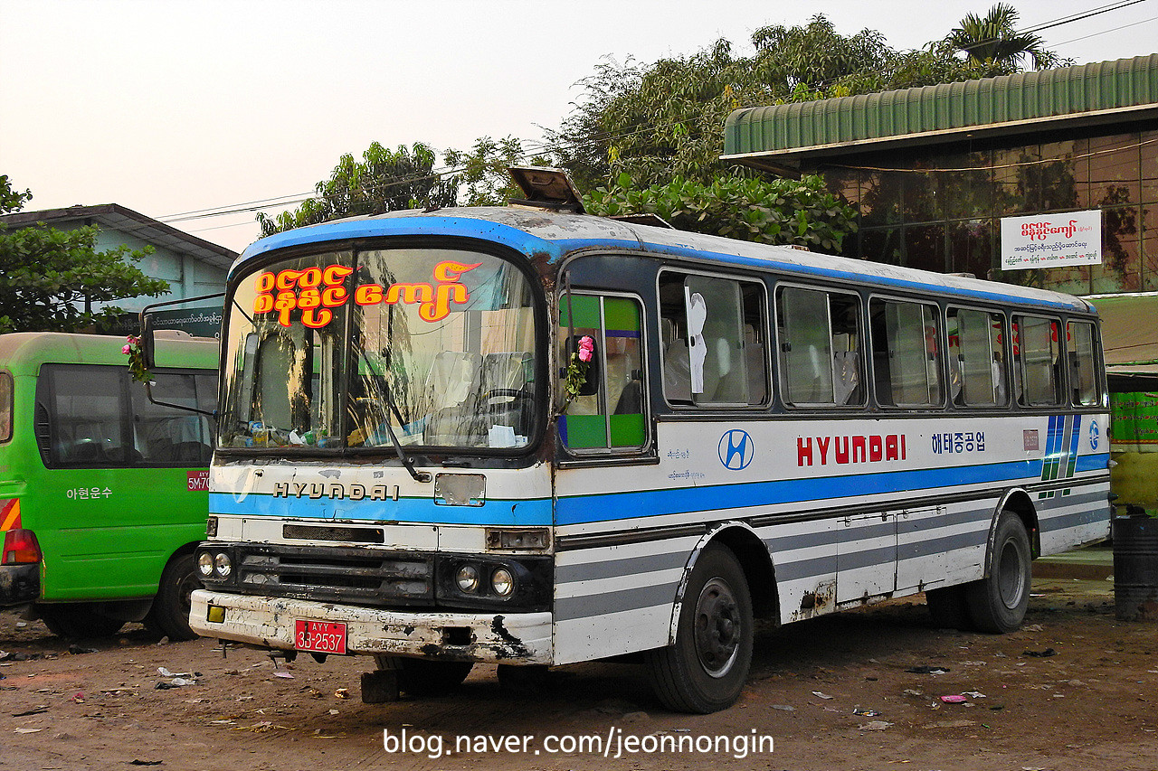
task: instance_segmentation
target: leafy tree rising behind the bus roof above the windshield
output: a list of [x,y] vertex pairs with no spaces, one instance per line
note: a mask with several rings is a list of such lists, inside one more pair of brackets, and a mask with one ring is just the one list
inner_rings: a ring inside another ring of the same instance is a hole
[[457,181],[434,169],[430,146],[415,142],[390,150],[372,144],[361,162],[349,153],[338,160],[330,178],[318,182],[315,198],[276,218],[257,213],[262,235],[316,225],[342,216],[382,214],[418,206],[454,206]]

